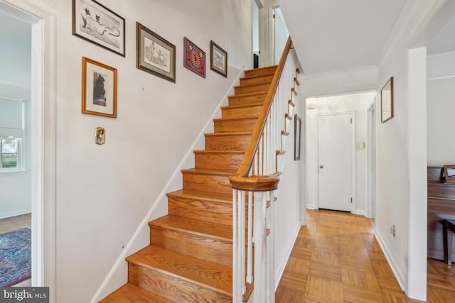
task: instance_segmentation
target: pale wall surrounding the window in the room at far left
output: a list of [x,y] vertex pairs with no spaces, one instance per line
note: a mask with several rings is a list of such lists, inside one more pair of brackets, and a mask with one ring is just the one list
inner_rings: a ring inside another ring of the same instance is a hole
[[0,219],[31,212],[31,26],[0,12],[0,96],[26,101],[23,172],[0,172]]

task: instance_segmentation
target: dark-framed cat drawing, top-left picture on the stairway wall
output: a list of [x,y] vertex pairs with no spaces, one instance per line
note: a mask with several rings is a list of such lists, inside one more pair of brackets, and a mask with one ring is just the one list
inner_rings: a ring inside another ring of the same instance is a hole
[[125,56],[125,19],[94,0],[73,0],[73,35]]

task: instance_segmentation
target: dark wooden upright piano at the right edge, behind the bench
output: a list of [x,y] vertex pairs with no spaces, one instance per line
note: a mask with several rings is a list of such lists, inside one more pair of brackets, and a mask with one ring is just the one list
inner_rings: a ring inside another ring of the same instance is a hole
[[[444,167],[428,166],[428,238],[427,256],[444,260],[442,222],[447,215],[455,215],[455,184],[445,182]],[[455,253],[449,253],[449,260],[455,260]]]

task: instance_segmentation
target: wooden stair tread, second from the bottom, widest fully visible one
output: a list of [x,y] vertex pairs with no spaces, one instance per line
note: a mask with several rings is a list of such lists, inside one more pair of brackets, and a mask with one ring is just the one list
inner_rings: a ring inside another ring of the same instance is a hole
[[232,268],[183,255],[157,246],[147,246],[127,257],[129,263],[166,272],[189,282],[232,296]]

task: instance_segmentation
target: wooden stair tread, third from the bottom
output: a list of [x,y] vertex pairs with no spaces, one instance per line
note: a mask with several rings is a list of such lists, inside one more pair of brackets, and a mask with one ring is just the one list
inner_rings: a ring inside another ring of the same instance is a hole
[[201,236],[210,236],[223,241],[232,241],[232,226],[217,224],[209,221],[183,218],[182,216],[167,215],[149,222],[149,226],[156,226],[171,230],[188,231]]

